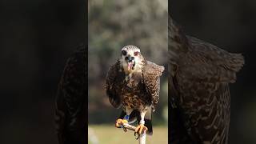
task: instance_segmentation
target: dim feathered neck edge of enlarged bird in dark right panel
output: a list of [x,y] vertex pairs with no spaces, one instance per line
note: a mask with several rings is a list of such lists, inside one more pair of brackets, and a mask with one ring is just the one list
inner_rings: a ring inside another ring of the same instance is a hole
[[176,25],[170,16],[168,18],[168,38],[170,62],[178,62],[179,56],[188,51],[189,42],[182,29]]

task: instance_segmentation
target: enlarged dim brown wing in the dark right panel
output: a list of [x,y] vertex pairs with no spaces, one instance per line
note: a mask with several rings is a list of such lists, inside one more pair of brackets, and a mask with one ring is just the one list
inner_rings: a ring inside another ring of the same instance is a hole
[[174,76],[180,111],[194,142],[226,143],[230,125],[229,82],[244,60],[217,46],[190,38],[191,50],[180,59]]

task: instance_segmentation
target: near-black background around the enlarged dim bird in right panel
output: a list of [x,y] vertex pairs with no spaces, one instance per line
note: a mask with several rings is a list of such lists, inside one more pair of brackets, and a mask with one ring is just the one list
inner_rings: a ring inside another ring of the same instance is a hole
[[245,56],[237,82],[230,85],[230,143],[256,143],[256,1],[169,2],[173,19],[186,34]]

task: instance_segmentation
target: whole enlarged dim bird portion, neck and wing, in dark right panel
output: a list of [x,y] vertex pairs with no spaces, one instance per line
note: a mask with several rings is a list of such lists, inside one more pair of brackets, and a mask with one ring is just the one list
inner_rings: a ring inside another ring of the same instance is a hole
[[184,34],[169,17],[170,143],[227,144],[229,83],[244,65],[231,54]]

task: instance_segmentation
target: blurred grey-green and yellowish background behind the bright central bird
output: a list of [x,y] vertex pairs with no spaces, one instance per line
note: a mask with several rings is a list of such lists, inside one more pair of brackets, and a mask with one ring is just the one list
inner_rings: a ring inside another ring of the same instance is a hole
[[[167,143],[167,0],[89,0],[89,142],[136,143],[134,134],[114,127],[121,109],[110,105],[104,89],[106,73],[126,45],[165,66],[160,102],[153,114],[153,137],[147,143]],[[96,139],[96,140],[95,140]]]

